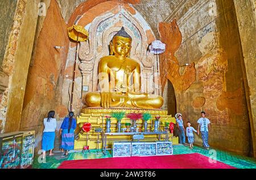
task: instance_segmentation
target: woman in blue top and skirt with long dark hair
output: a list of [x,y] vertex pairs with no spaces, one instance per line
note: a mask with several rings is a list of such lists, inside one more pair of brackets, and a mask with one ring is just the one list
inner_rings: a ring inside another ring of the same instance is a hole
[[74,140],[75,140],[75,130],[76,130],[76,119],[73,118],[74,113],[69,112],[69,117],[65,117],[61,127],[60,127],[60,134],[61,134],[61,148],[63,148],[66,152],[63,156],[68,155],[69,150],[74,149]]

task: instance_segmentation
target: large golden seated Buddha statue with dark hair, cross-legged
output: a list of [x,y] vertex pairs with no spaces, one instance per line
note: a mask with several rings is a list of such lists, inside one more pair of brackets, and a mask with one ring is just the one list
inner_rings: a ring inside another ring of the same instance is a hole
[[161,96],[140,93],[141,66],[137,61],[129,58],[131,42],[131,36],[123,27],[114,35],[110,42],[111,55],[102,57],[98,66],[100,92],[89,92],[85,96],[88,107],[142,109],[162,107]]

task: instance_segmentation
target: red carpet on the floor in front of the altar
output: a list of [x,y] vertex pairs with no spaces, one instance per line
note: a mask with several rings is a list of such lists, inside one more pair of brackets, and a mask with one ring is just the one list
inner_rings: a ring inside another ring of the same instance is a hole
[[64,161],[58,169],[233,169],[222,162],[192,153],[172,156],[114,157]]

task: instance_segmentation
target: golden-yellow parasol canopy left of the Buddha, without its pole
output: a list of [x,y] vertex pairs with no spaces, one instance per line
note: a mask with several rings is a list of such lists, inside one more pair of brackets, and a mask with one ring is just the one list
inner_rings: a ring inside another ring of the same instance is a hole
[[84,42],[88,40],[89,33],[81,25],[72,25],[68,28],[68,37],[74,41]]

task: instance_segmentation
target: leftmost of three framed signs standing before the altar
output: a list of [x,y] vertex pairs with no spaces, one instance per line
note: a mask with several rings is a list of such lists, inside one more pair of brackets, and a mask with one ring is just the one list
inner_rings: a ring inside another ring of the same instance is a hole
[[130,142],[113,142],[112,154],[113,154],[113,157],[131,156],[131,143]]

